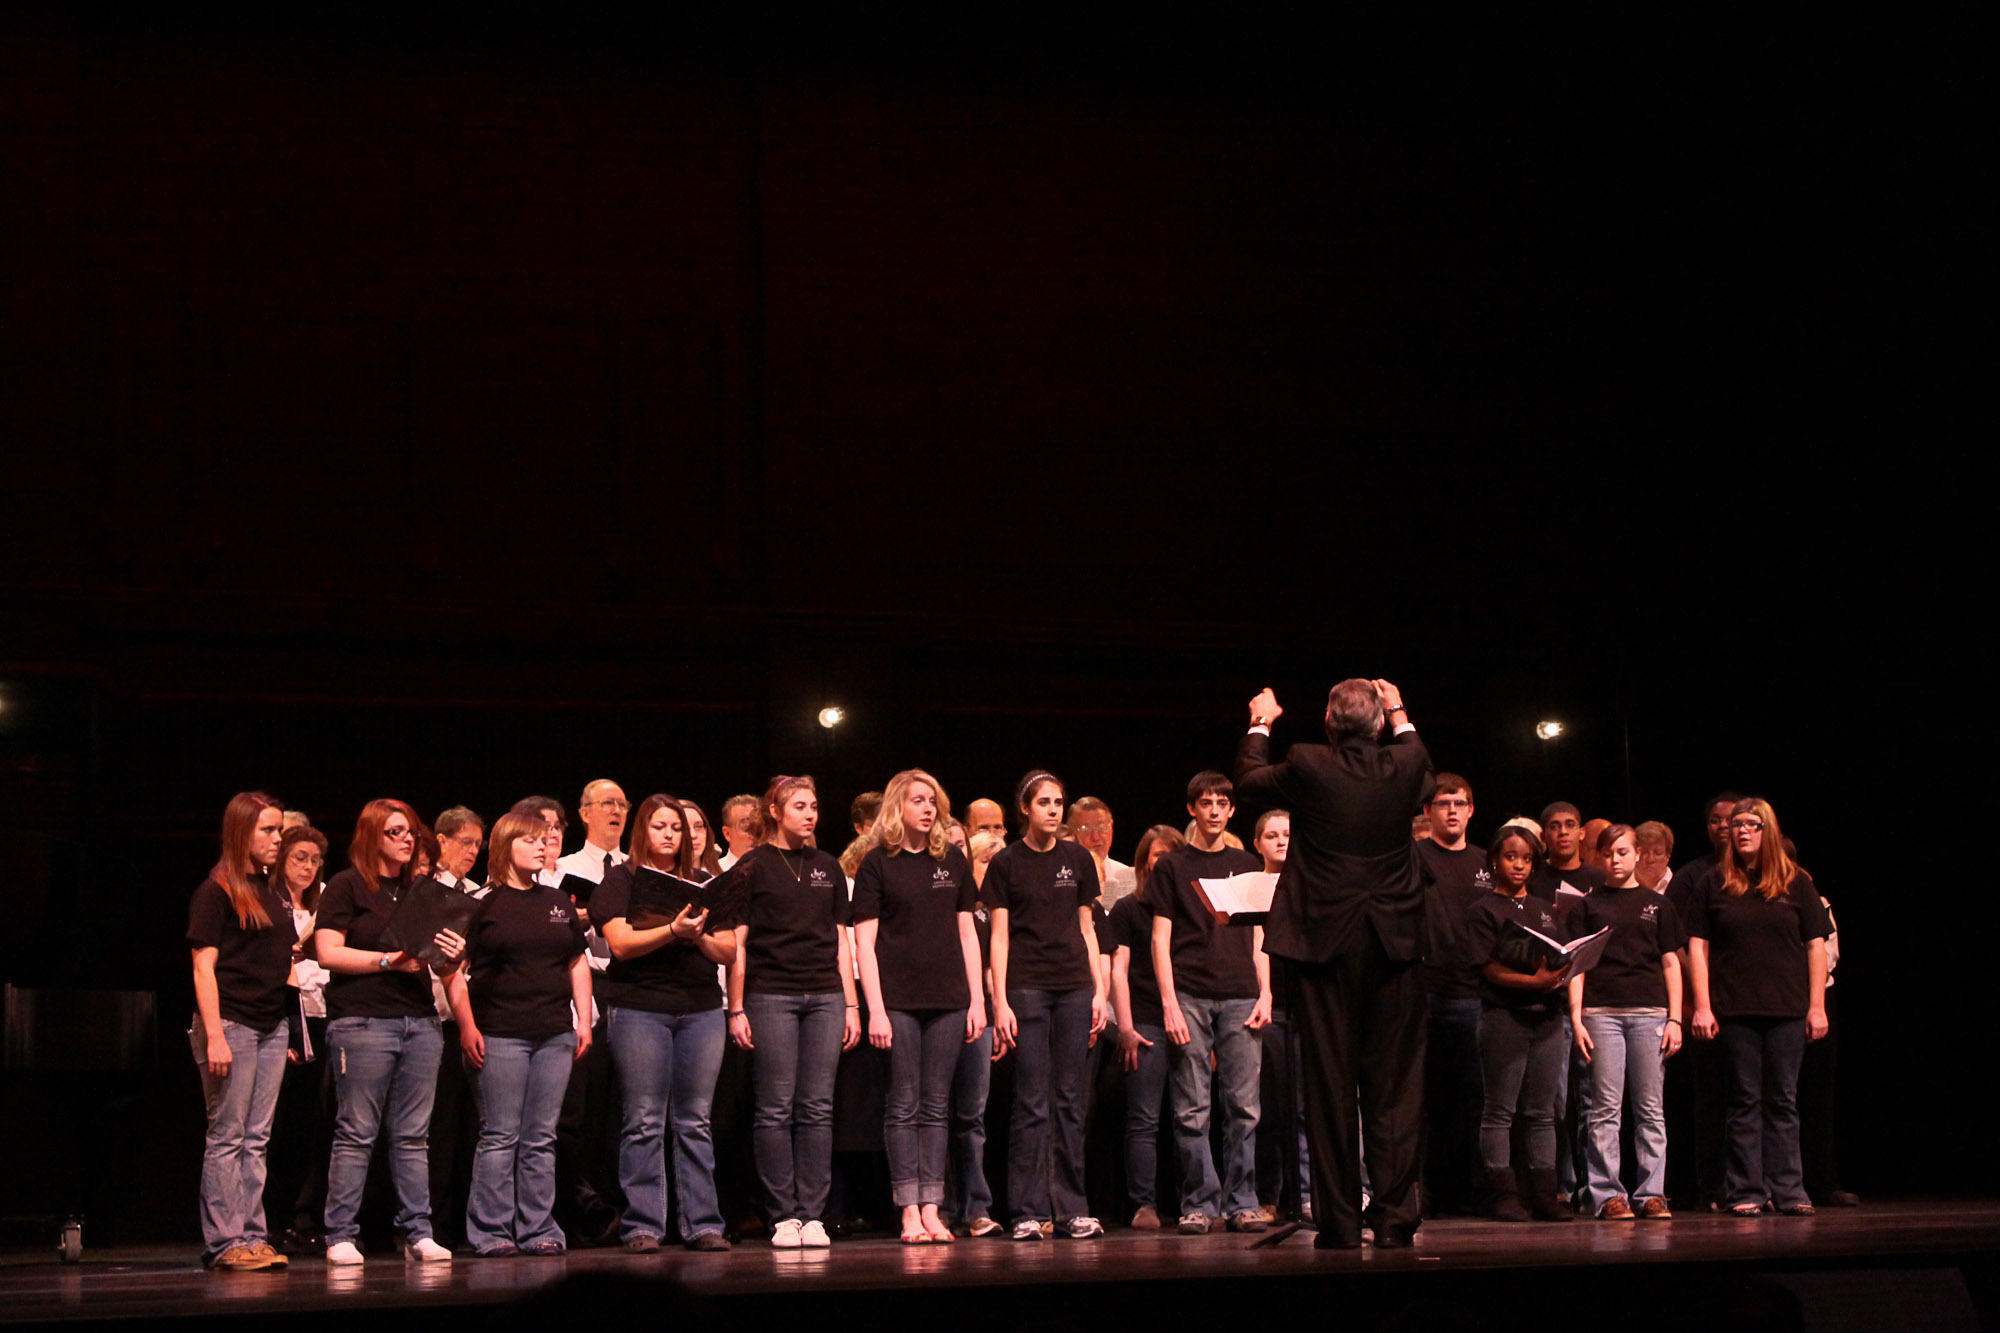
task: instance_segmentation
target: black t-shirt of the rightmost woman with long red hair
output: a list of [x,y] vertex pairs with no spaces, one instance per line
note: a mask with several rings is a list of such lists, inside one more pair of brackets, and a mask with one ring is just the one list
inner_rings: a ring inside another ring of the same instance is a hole
[[1812,1003],[1806,941],[1830,929],[1804,871],[1770,901],[1756,889],[1732,899],[1722,875],[1710,875],[1688,917],[1688,935],[1708,941],[1708,1007],[1718,1019],[1804,1019]]

